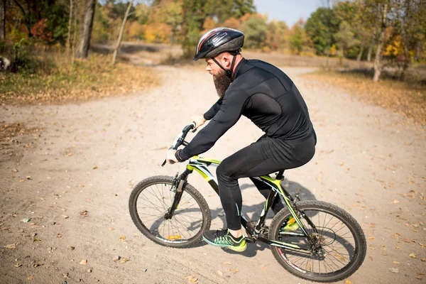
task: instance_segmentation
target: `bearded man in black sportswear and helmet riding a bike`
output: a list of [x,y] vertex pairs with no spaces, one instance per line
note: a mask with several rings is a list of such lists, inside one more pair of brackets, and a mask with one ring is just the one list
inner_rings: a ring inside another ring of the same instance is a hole
[[[217,168],[219,196],[228,229],[204,231],[207,243],[244,251],[241,233],[241,190],[238,179],[268,175],[307,163],[315,153],[317,138],[305,101],[295,84],[283,71],[261,60],[246,60],[240,54],[244,34],[231,28],[208,31],[197,45],[194,60],[205,58],[206,70],[213,75],[219,100],[196,126],[210,120],[182,150],[169,150],[166,160],[183,162],[212,148],[214,143],[236,124],[241,115],[251,119],[266,134],[224,159]],[[262,195],[268,196],[263,183],[255,182]],[[273,204],[276,213],[283,204]]]

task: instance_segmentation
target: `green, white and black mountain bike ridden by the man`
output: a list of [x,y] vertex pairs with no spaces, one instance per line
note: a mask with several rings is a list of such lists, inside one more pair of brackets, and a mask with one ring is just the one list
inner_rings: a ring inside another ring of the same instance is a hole
[[[170,148],[187,146],[185,138],[192,129],[195,132],[195,124],[185,126]],[[219,195],[217,179],[209,167],[220,163],[194,156],[181,174],[153,176],[139,182],[129,199],[130,215],[136,227],[148,239],[163,246],[187,248],[201,241],[212,217],[206,200],[187,178],[195,170]],[[256,179],[271,187],[271,193],[260,219],[248,221],[241,214],[248,243],[269,244],[283,268],[307,280],[342,280],[361,266],[366,256],[366,237],[354,217],[334,204],[300,201],[297,195],[293,198],[281,186],[283,170],[275,178],[263,175]],[[266,226],[266,214],[276,198],[283,200],[285,208],[273,217],[271,226]]]

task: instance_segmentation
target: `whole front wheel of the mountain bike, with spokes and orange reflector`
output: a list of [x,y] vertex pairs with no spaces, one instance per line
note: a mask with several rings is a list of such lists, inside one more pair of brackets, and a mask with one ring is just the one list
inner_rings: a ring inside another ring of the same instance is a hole
[[154,176],[136,185],[129,198],[133,223],[148,239],[163,246],[187,248],[202,239],[212,217],[204,197],[194,187],[183,187],[182,197],[169,219],[175,197],[173,177]]

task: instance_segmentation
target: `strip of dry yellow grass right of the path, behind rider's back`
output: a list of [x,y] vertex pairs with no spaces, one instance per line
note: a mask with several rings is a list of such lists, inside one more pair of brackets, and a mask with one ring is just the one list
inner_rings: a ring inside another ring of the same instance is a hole
[[426,89],[420,82],[381,80],[375,83],[371,77],[348,72],[318,71],[304,76],[329,82],[361,101],[392,109],[413,118],[416,124],[426,125]]

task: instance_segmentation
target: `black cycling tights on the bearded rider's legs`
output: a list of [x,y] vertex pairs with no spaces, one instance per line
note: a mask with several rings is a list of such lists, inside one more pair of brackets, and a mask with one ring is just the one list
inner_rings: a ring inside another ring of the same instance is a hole
[[[277,138],[262,136],[258,141],[230,155],[217,167],[219,196],[226,214],[228,229],[241,229],[241,190],[239,178],[258,177],[297,168],[309,162],[315,154],[315,132],[305,141],[288,143]],[[266,198],[271,192],[263,182],[251,179]],[[283,208],[278,198],[273,204],[275,214]]]

